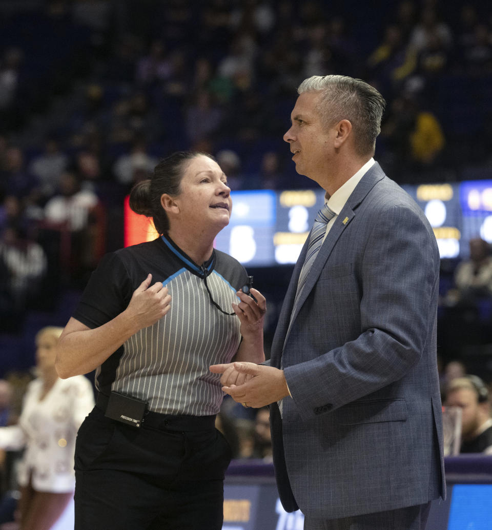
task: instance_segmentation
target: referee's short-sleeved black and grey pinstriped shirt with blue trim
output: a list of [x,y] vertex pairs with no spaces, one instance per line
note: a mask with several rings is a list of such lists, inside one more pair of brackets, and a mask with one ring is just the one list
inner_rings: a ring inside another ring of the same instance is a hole
[[[204,264],[214,301],[226,312],[237,302],[246,271],[229,255],[214,250]],[[208,367],[228,363],[239,347],[240,322],[210,301],[204,271],[169,237],[107,254],[84,290],[73,316],[96,328],[127,307],[147,274],[162,281],[172,296],[171,310],[138,331],[96,369],[96,388],[144,399],[164,414],[208,416],[222,403],[220,376]]]

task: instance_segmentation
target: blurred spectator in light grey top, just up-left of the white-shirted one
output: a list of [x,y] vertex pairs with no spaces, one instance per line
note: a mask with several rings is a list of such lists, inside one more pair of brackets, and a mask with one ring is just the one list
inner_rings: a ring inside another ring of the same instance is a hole
[[38,179],[45,197],[55,193],[60,175],[67,169],[68,162],[68,156],[60,151],[57,140],[48,137],[45,152],[34,157],[29,165],[29,172]]

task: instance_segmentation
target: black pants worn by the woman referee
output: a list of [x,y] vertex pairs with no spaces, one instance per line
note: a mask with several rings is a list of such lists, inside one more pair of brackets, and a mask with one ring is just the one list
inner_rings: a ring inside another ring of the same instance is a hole
[[194,427],[192,417],[163,418],[171,419],[135,428],[95,407],[84,420],[75,449],[75,530],[222,528],[229,444],[213,421]]

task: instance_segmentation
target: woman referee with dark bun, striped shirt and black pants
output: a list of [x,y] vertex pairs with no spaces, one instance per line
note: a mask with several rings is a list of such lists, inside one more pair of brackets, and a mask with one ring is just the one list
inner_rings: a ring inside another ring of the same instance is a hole
[[207,154],[157,164],[130,207],[160,236],[101,260],[60,337],[60,377],[95,369],[99,391],[75,449],[76,530],[222,528],[231,450],[208,366],[265,359],[265,298],[214,249],[230,191]]

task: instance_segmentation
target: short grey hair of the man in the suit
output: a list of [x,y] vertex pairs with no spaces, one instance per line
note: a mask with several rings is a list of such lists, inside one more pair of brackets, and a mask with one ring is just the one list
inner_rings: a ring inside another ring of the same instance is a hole
[[373,86],[344,75],[313,75],[299,85],[297,92],[322,92],[317,110],[324,126],[350,121],[357,153],[374,154],[386,102]]

